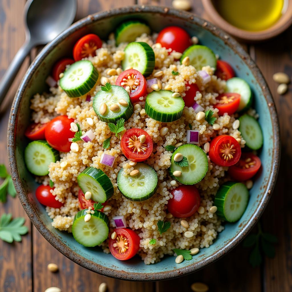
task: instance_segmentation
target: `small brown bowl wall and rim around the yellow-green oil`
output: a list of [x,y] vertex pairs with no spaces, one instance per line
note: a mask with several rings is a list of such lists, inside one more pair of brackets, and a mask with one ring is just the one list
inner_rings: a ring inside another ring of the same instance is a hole
[[[255,0],[256,1],[256,0]],[[278,34],[284,32],[292,24],[292,0],[286,0],[286,11],[281,16],[281,18],[271,27],[265,30],[251,32],[248,30],[240,29],[233,26],[227,22],[216,10],[212,0],[202,0],[206,15],[205,18],[220,28],[224,29],[229,34],[232,34],[237,39],[248,41],[248,42],[258,42],[265,41],[267,39],[273,38]]]

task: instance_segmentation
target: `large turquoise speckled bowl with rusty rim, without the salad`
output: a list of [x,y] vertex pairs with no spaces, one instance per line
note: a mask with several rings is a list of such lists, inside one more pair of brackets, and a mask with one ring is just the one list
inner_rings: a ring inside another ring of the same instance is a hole
[[[30,123],[30,99],[35,93],[48,91],[45,84],[52,66],[61,57],[71,55],[74,43],[84,34],[96,33],[102,39],[126,19],[139,18],[149,23],[154,31],[168,25],[178,25],[191,36],[197,36],[201,44],[213,49],[223,60],[230,62],[237,76],[244,78],[254,94],[259,123],[263,129],[264,145],[260,153],[262,169],[250,191],[248,207],[242,218],[234,224],[226,224],[214,244],[202,248],[192,260],[175,264],[173,256],[165,256],[161,262],[145,265],[138,257],[128,261],[116,260],[100,248],[85,248],[72,234],[61,232],[51,225],[45,207],[34,196],[37,184],[27,171],[23,152],[28,140],[24,136]],[[8,126],[8,153],[11,173],[20,202],[39,232],[58,251],[75,263],[104,276],[131,280],[165,280],[197,271],[218,260],[236,246],[251,230],[264,211],[270,198],[279,165],[279,126],[276,109],[268,86],[244,49],[229,35],[193,14],[164,7],[131,6],[89,15],[60,34],[36,57],[27,70],[12,105]]]

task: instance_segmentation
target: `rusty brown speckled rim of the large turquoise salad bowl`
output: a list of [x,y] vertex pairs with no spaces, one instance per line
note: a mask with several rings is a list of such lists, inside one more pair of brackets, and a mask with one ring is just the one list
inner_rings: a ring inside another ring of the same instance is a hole
[[[269,106],[270,116],[272,119],[272,126],[273,126],[273,139],[274,139],[274,148],[272,152],[273,156],[273,164],[270,173],[270,177],[268,178],[267,183],[265,184],[265,190],[263,191],[263,197],[259,201],[258,206],[246,224],[244,224],[238,234],[231,238],[222,248],[215,251],[213,254],[200,260],[199,262],[192,263],[186,267],[177,268],[171,271],[164,271],[164,272],[152,272],[152,273],[132,273],[127,272],[125,270],[114,270],[111,268],[104,267],[97,263],[94,263],[91,260],[88,260],[78,253],[74,252],[64,244],[58,237],[46,227],[46,225],[42,222],[39,215],[34,212],[34,208],[32,203],[29,201],[25,190],[23,188],[20,176],[17,170],[17,163],[15,158],[16,146],[15,146],[15,125],[17,122],[17,113],[20,109],[20,101],[22,95],[25,91],[25,88],[28,86],[29,81],[36,72],[38,66],[44,60],[44,58],[51,52],[55,46],[57,46],[63,39],[65,39],[68,35],[72,34],[72,32],[89,25],[96,20],[103,20],[107,19],[110,16],[114,15],[131,15],[132,13],[159,13],[162,15],[171,15],[174,18],[180,18],[187,20],[188,22],[194,23],[198,26],[207,29],[209,32],[214,34],[215,36],[222,39],[227,46],[229,46],[235,53],[237,53],[243,62],[249,67],[257,83],[260,85],[265,100]],[[280,158],[280,139],[279,139],[279,123],[276,108],[274,105],[274,101],[270,90],[265,82],[263,75],[261,74],[258,67],[255,63],[251,60],[251,57],[244,51],[244,49],[239,45],[239,43],[232,37],[230,37],[227,33],[223,32],[221,29],[217,28],[215,25],[211,24],[210,22],[195,16],[192,13],[178,11],[168,7],[160,7],[160,6],[145,6],[145,5],[135,5],[135,6],[126,6],[122,8],[114,8],[107,11],[98,12],[92,15],[88,15],[86,18],[83,18],[73,25],[71,25],[68,29],[62,32],[59,36],[57,36],[51,43],[47,44],[41,52],[36,56],[35,60],[29,66],[25,76],[23,77],[20,86],[15,94],[15,98],[13,100],[13,105],[11,107],[9,123],[8,123],[8,161],[10,166],[10,171],[12,174],[13,182],[15,185],[15,189],[18,194],[18,198],[25,209],[28,217],[36,227],[36,229],[43,235],[43,237],[58,251],[60,251],[63,255],[67,258],[72,260],[73,262],[85,267],[88,270],[101,274],[103,276],[112,277],[121,280],[128,280],[128,281],[159,281],[159,280],[166,280],[166,279],[173,279],[176,277],[180,277],[183,275],[190,274],[201,268],[205,267],[206,265],[212,263],[215,260],[218,260],[221,256],[232,250],[244,237],[245,235],[251,230],[251,228],[256,224],[260,215],[263,213],[267,202],[270,199],[270,195],[272,193],[275,180],[277,178],[277,172],[279,168],[279,158]]]

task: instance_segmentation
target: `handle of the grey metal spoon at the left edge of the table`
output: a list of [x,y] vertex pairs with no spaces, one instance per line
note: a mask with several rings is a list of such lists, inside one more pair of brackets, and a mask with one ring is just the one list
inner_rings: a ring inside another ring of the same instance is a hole
[[11,61],[8,69],[6,70],[3,78],[0,81],[0,105],[5,98],[5,95],[11,86],[20,66],[22,65],[23,60],[29,54],[32,49],[33,44],[30,41],[25,41],[25,43],[18,50],[13,60]]

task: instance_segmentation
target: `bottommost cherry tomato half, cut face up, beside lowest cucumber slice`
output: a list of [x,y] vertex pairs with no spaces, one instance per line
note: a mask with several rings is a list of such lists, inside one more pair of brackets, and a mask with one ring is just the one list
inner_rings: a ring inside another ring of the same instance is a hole
[[140,248],[140,237],[129,228],[117,228],[115,239],[109,239],[109,250],[118,260],[128,260],[133,258]]

